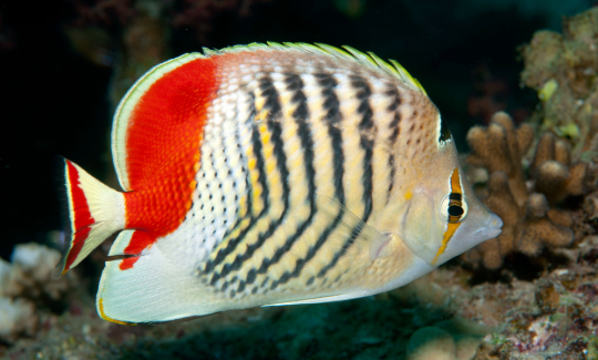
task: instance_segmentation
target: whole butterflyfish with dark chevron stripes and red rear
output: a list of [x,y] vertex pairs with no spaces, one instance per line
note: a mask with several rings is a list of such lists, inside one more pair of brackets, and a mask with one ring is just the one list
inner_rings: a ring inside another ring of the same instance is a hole
[[114,116],[124,192],[63,162],[56,274],[121,232],[97,311],[157,322],[391,290],[497,236],[419,82],[346,49],[252,44],[147,72]]

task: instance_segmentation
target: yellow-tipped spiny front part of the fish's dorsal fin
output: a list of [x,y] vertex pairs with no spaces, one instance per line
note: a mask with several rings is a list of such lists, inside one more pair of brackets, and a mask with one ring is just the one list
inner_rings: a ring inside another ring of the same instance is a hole
[[401,82],[403,82],[408,86],[420,90],[424,94],[427,94],[425,90],[423,89],[422,84],[420,84],[420,82],[415,78],[413,78],[405,70],[405,68],[403,68],[395,60],[389,60],[390,62],[389,63],[380,59],[373,52],[363,53],[359,50],[355,50],[347,45],[342,48],[344,50],[334,48],[331,45],[327,45],[323,43],[310,44],[310,43],[305,43],[305,42],[285,42],[285,43],[267,42],[265,44],[265,43],[254,42],[247,45],[234,45],[234,47],[224,48],[220,50],[209,50],[209,49],[204,48],[204,54],[206,56],[212,56],[215,54],[235,53],[235,52],[243,52],[243,51],[257,51],[257,50],[266,50],[266,51],[268,50],[278,50],[278,51],[296,50],[296,51],[302,51],[302,52],[310,52],[310,53],[320,54],[324,56],[333,56],[333,58],[339,58],[343,60],[354,61],[361,65],[368,66],[369,69],[383,71],[401,80]]

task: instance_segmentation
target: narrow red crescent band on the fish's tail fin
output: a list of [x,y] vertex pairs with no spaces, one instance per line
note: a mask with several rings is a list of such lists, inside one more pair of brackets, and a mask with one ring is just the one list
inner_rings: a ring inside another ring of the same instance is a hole
[[71,206],[71,210],[73,212],[73,218],[71,219],[71,223],[73,224],[73,241],[71,243],[71,248],[66,256],[63,274],[71,268],[71,265],[73,265],[81,248],[83,248],[83,245],[85,244],[85,239],[90,235],[90,225],[95,223],[95,219],[91,215],[85,193],[83,193],[83,189],[79,186],[79,171],[69,161],[66,161],[66,181],[71,185],[71,204],[69,204],[69,206]]

